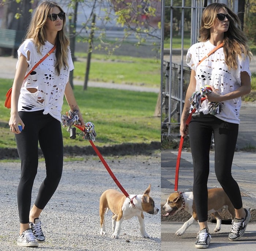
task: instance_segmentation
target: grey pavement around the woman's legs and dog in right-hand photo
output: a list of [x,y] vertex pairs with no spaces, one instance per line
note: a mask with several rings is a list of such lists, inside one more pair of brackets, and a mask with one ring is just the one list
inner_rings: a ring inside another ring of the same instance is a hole
[[[181,163],[178,181],[178,191],[188,192],[193,185],[193,166],[190,152],[182,151]],[[165,204],[170,193],[174,192],[175,167],[177,160],[177,151],[161,151],[161,205]],[[231,225],[221,225],[221,231],[214,233],[215,224],[209,223],[210,234],[212,237],[209,249],[225,251],[255,250],[256,247],[256,153],[236,152],[233,161],[233,177],[240,186],[243,206],[250,208],[252,217],[246,228],[246,232],[241,240],[230,242],[227,239]],[[221,187],[214,172],[214,152],[210,154],[210,174],[208,187]],[[165,216],[162,216],[163,220]],[[170,217],[170,216],[168,216]],[[181,214],[179,214],[180,219]],[[190,217],[190,216],[189,216]],[[185,217],[184,217],[185,218]],[[170,220],[170,221],[167,221]],[[185,221],[185,220],[183,220]],[[171,219],[161,221],[161,250],[172,249],[191,251],[196,250],[194,246],[198,224],[191,225],[184,235],[176,236],[175,232],[184,222],[175,222]]]

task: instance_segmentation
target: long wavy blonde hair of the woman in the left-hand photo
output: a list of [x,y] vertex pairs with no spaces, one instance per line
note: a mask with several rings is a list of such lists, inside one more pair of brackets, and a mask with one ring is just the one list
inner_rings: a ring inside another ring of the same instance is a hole
[[[53,7],[58,7],[61,12],[63,9],[59,4],[53,1],[44,1],[38,5],[36,11],[30,21],[29,28],[27,30],[26,39],[32,38],[34,40],[37,51],[40,53],[41,47],[46,42],[46,27],[45,23],[47,16]],[[55,69],[57,75],[60,75],[60,69],[63,67],[68,67],[68,46],[69,39],[65,35],[65,23],[66,17],[63,19],[63,26],[60,31],[57,32],[56,38],[56,64]]]

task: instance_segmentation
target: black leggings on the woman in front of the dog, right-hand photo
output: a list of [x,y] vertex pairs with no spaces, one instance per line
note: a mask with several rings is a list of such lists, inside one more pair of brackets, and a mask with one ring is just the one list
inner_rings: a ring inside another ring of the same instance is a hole
[[240,189],[231,175],[238,124],[222,121],[215,116],[192,118],[189,123],[189,140],[194,167],[193,195],[199,222],[208,219],[206,201],[208,199],[207,181],[212,133],[214,134],[214,161],[217,180],[234,208],[242,207]]

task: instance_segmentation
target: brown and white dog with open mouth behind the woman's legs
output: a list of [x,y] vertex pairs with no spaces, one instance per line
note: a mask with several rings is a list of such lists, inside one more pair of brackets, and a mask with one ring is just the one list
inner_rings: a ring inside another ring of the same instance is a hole
[[[218,214],[218,210],[223,206],[227,208],[231,217],[234,217],[234,206],[227,197],[226,193],[222,188],[212,188],[208,189],[208,214],[212,214],[217,221],[214,232],[221,230],[221,216]],[[178,211],[185,209],[189,212],[192,217],[186,221],[180,229],[176,231],[176,235],[183,235],[187,228],[192,225],[192,223],[197,221],[196,207],[193,201],[193,192],[174,192],[171,193],[166,200],[163,210],[166,212],[164,216],[174,215]]]

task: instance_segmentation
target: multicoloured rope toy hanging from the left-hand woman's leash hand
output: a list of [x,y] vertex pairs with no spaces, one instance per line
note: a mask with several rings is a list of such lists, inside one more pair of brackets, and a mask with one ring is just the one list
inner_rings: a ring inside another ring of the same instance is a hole
[[67,127],[67,132],[70,132],[73,125],[76,126],[82,131],[79,135],[81,135],[84,140],[95,141],[95,137],[97,136],[94,130],[94,123],[87,122],[83,126],[81,125],[78,110],[69,110],[64,115],[61,115],[61,125],[63,128]]

